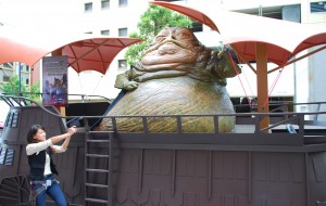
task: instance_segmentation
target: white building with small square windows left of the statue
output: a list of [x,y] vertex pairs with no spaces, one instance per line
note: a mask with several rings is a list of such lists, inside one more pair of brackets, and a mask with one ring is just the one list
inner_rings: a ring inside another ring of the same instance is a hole
[[[138,0],[78,1],[83,22],[80,30],[86,34],[128,37],[130,33],[137,31],[137,23],[147,8],[148,1]],[[70,69],[70,93],[104,95],[114,99],[120,92],[114,88],[115,77],[128,68],[124,57],[125,51],[126,49],[112,61],[105,75],[91,70],[76,74]]]

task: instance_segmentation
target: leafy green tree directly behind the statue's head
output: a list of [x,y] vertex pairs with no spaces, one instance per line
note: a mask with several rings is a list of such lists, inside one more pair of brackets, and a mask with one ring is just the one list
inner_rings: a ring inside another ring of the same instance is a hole
[[148,10],[140,16],[140,22],[137,24],[139,31],[134,31],[129,35],[131,38],[146,39],[146,41],[133,44],[128,47],[125,59],[127,63],[134,64],[140,60],[141,51],[147,48],[147,46],[152,42],[153,38],[165,27],[192,27],[192,21],[177,12],[172,10],[150,4]]

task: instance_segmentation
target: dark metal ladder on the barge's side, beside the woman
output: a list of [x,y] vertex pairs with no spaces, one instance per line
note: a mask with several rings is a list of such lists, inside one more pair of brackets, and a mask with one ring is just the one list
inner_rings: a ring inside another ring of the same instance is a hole
[[113,206],[113,131],[89,131],[85,138],[85,206]]

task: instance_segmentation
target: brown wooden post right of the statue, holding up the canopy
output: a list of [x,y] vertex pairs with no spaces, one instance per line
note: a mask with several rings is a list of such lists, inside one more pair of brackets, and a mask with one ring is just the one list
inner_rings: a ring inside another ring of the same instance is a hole
[[[267,77],[267,50],[265,43],[256,43],[256,87],[258,112],[268,113],[268,77]],[[261,120],[261,129],[269,126],[269,117]]]

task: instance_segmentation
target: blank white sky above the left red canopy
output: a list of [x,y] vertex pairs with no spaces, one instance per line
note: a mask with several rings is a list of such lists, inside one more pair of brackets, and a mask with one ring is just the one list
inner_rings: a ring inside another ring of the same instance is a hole
[[78,0],[0,0],[0,23],[16,29],[78,28]]

